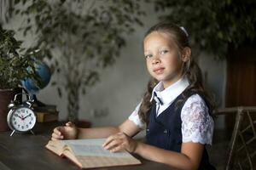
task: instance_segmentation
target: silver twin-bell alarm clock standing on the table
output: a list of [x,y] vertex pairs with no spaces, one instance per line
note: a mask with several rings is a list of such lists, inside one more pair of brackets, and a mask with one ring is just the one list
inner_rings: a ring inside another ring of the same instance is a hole
[[10,134],[12,136],[15,132],[26,133],[30,131],[32,134],[32,128],[36,124],[36,115],[32,110],[32,99],[28,94],[26,94],[26,101],[21,102],[17,100],[18,95],[25,93],[15,94],[15,99],[9,104],[9,113],[7,116],[7,122],[10,129],[13,132]]

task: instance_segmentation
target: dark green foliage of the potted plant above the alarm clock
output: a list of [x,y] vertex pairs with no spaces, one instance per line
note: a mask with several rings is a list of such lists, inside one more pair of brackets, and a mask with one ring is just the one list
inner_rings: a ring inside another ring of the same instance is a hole
[[[34,61],[30,55],[18,53],[20,41],[14,37],[15,32],[5,30],[0,26],[0,88],[18,88],[25,78],[36,78]],[[27,68],[31,68],[30,70]]]

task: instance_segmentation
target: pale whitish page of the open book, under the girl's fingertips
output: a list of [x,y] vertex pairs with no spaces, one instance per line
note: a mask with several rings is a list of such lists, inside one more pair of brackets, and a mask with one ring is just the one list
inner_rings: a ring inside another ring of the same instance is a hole
[[76,156],[107,156],[129,158],[130,153],[127,151],[110,152],[102,147],[105,139],[76,139],[62,140],[63,144],[67,144]]

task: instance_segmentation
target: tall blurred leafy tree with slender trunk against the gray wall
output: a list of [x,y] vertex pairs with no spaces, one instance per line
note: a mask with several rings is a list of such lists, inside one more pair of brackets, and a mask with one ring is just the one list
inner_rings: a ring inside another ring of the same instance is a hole
[[13,14],[26,20],[24,35],[37,35],[32,48],[40,48],[61,77],[53,84],[60,96],[67,91],[70,121],[78,118],[80,94],[99,81],[102,69],[113,65],[133,27],[143,25],[139,1],[16,0],[11,6]]

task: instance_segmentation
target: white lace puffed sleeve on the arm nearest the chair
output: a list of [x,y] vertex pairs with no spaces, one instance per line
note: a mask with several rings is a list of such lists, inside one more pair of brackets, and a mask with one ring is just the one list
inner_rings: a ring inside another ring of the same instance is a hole
[[187,99],[181,111],[183,143],[212,144],[214,123],[205,101],[194,94]]

